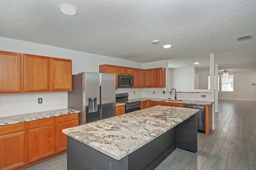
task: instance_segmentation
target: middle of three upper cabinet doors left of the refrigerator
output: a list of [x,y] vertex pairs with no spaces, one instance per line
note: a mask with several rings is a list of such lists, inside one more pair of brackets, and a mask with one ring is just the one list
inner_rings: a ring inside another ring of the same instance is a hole
[[24,55],[24,92],[49,91],[49,57]]

